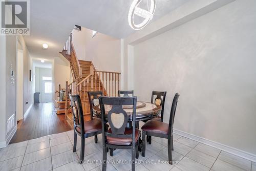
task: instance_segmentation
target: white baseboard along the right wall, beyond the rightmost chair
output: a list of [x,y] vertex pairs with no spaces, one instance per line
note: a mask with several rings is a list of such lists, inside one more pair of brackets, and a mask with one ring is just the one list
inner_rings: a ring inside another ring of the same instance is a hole
[[211,140],[208,140],[208,139],[196,136],[196,135],[192,135],[192,134],[180,131],[180,130],[176,130],[176,129],[174,129],[174,133],[178,134],[180,136],[183,136],[183,137],[201,142],[203,144],[206,144],[206,145],[209,145],[209,146],[212,146],[212,147],[215,147],[215,148],[219,148],[222,151],[231,153],[233,155],[242,157],[244,159],[256,162],[256,155],[245,152],[245,151],[242,151],[241,149],[234,148],[234,147],[231,147],[231,146],[228,146],[228,145],[224,145],[224,144],[221,144],[221,143],[218,143],[218,142],[215,142],[215,141],[211,141]]

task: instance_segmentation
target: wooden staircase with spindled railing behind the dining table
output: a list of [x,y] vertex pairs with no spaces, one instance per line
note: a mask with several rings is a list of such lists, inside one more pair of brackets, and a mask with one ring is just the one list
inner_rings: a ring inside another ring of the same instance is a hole
[[[70,110],[68,94],[79,94],[84,117],[90,118],[88,91],[102,91],[104,96],[118,96],[120,73],[97,71],[92,61],[78,60],[70,34],[65,47],[60,52],[70,61],[73,81],[66,81],[66,112],[65,120],[73,127],[73,115]],[[88,120],[88,119],[87,119]]]

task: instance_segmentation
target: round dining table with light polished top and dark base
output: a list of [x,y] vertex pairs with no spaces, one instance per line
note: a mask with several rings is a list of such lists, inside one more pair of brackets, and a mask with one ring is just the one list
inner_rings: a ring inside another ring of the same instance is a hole
[[[107,115],[108,112],[112,109],[112,105],[104,105],[105,107],[105,114]],[[128,116],[128,127],[131,126],[132,114],[133,114],[133,106],[132,105],[123,105],[123,110],[126,112]],[[136,128],[139,129],[139,121],[145,121],[149,119],[153,119],[157,117],[161,111],[161,106],[151,103],[151,102],[144,102],[144,101],[137,101],[136,104]],[[94,117],[101,118],[100,106],[95,105],[93,107]],[[106,116],[106,119],[107,116]],[[141,136],[140,136],[141,137]],[[139,151],[141,152],[142,149],[142,140],[139,138]]]

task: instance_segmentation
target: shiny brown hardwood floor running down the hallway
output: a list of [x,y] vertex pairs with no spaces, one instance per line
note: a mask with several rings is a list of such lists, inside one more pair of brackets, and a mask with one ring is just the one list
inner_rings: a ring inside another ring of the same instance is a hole
[[10,143],[39,138],[71,130],[65,115],[57,115],[53,103],[33,104],[28,115],[17,124],[17,131]]

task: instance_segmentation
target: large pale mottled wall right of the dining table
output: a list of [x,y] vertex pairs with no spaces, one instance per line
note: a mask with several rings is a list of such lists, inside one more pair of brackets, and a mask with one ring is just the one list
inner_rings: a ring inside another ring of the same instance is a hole
[[255,7],[237,0],[134,46],[139,100],[167,91],[167,122],[179,92],[175,129],[256,154]]

